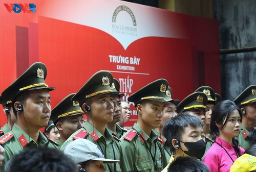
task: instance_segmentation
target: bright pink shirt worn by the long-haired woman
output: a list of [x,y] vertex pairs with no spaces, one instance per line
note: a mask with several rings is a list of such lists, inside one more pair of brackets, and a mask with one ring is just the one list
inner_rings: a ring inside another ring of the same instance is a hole
[[[238,159],[237,154],[234,151],[233,144],[229,145],[228,142],[219,137],[216,137],[216,142],[225,148],[233,161]],[[229,172],[233,161],[230,159],[226,151],[217,143],[211,145],[210,149],[206,152],[203,162],[209,167],[211,172]],[[239,147],[239,149],[243,155],[244,149],[241,147]]]

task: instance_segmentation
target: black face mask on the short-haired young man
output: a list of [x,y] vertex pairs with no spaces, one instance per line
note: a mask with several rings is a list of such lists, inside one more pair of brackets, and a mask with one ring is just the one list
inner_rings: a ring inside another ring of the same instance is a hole
[[[182,141],[180,141],[182,142]],[[188,151],[182,151],[190,157],[202,158],[205,152],[206,143],[203,139],[196,142],[182,142],[187,147]]]

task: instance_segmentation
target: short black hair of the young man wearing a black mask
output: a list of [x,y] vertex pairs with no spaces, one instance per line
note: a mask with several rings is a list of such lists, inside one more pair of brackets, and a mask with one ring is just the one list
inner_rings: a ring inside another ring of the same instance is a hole
[[188,112],[179,113],[165,122],[162,133],[170,145],[170,150],[175,151],[172,140],[180,140],[183,131],[188,126],[204,128],[204,123],[198,117],[188,114]]

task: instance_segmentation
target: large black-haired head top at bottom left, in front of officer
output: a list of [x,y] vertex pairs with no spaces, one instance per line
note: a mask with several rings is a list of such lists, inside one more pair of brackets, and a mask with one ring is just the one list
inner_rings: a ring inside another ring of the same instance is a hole
[[58,149],[38,147],[26,149],[14,155],[9,171],[77,172],[77,165]]

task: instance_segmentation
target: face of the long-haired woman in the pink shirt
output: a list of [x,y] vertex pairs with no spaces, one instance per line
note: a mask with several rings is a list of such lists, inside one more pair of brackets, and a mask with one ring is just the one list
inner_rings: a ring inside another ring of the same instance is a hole
[[[241,117],[237,109],[234,109],[231,113],[228,119],[226,120],[225,126],[220,128],[220,126],[217,126],[220,132],[220,135],[225,138],[233,138],[237,137],[240,131],[240,125],[241,125]],[[224,120],[224,121],[225,121]],[[218,124],[217,124],[218,125]]]

